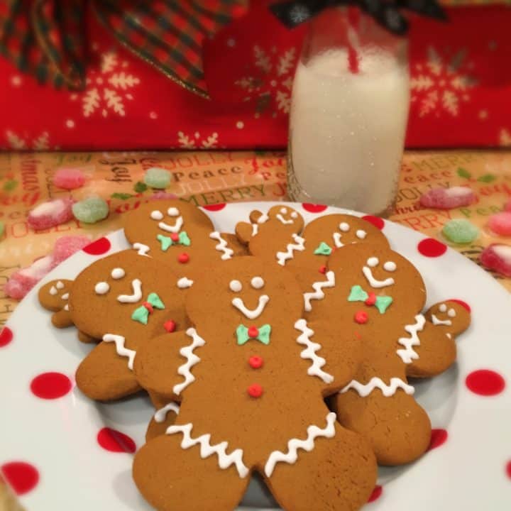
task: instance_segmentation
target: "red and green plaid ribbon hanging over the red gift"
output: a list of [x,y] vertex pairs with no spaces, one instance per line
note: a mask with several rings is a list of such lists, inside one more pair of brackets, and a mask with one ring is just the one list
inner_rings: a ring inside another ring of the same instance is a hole
[[[103,25],[145,62],[208,97],[202,43],[247,0],[89,0]],[[84,89],[87,0],[0,0],[0,55],[40,83]]]

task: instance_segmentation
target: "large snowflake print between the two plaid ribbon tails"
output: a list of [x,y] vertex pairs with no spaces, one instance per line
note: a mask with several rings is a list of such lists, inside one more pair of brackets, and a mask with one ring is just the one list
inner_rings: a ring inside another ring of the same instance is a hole
[[133,100],[131,89],[140,84],[140,79],[124,71],[128,62],[120,62],[118,55],[111,51],[101,53],[99,70],[93,69],[87,75],[87,88],[80,94],[72,94],[71,99],[82,104],[84,117],[101,113],[118,116],[126,115],[125,101]]

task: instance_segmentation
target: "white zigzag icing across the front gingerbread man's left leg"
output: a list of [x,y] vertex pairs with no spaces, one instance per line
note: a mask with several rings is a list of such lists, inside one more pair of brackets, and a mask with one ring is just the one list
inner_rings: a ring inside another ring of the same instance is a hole
[[248,468],[243,464],[243,450],[235,449],[231,454],[227,454],[226,450],[229,447],[229,442],[223,441],[219,444],[211,445],[211,434],[203,434],[192,438],[190,433],[192,432],[193,424],[183,424],[182,426],[170,426],[167,428],[167,434],[182,433],[183,438],[181,441],[182,449],[189,449],[194,445],[200,445],[200,456],[202,459],[216,454],[219,458],[219,467],[222,469],[229,468],[231,465],[236,465],[238,474],[241,478],[248,476]]

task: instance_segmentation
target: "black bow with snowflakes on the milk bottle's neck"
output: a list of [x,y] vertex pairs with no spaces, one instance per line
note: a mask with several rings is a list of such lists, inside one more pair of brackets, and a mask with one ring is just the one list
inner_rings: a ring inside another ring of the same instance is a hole
[[447,16],[436,0],[299,0],[270,5],[270,11],[287,28],[308,21],[327,7],[352,5],[375,18],[380,25],[396,35],[408,31],[408,21],[400,12],[407,9],[422,16],[445,21]]

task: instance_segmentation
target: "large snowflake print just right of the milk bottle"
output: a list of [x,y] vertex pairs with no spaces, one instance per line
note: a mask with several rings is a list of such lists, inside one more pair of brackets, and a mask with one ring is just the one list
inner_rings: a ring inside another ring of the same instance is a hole
[[427,60],[412,69],[412,102],[419,104],[419,116],[436,117],[443,112],[458,116],[461,103],[470,100],[470,89],[478,83],[469,70],[473,65],[466,50],[442,56],[433,46],[427,48]]

